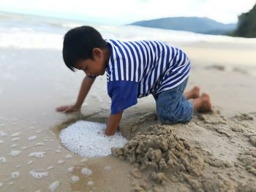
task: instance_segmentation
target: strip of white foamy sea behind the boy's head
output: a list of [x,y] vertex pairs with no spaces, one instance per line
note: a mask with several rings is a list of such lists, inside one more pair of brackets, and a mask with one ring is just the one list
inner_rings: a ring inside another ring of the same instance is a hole
[[43,18],[0,12],[0,47],[53,48],[61,50],[64,34],[71,28],[89,25],[97,28],[105,39],[158,40],[171,45],[192,42],[235,42],[255,45],[256,39],[196,34],[140,26],[107,26],[75,20]]

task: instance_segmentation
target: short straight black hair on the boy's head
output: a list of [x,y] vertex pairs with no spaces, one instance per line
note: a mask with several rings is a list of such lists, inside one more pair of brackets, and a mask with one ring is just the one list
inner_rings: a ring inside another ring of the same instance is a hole
[[75,72],[75,64],[80,60],[93,59],[92,50],[108,47],[101,34],[91,26],[80,26],[67,31],[63,42],[63,60]]

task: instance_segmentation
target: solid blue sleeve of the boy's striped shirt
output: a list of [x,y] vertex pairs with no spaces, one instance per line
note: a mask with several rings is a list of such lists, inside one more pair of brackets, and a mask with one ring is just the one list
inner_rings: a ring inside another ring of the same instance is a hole
[[108,82],[108,95],[111,98],[111,114],[117,114],[138,103],[138,82]]

